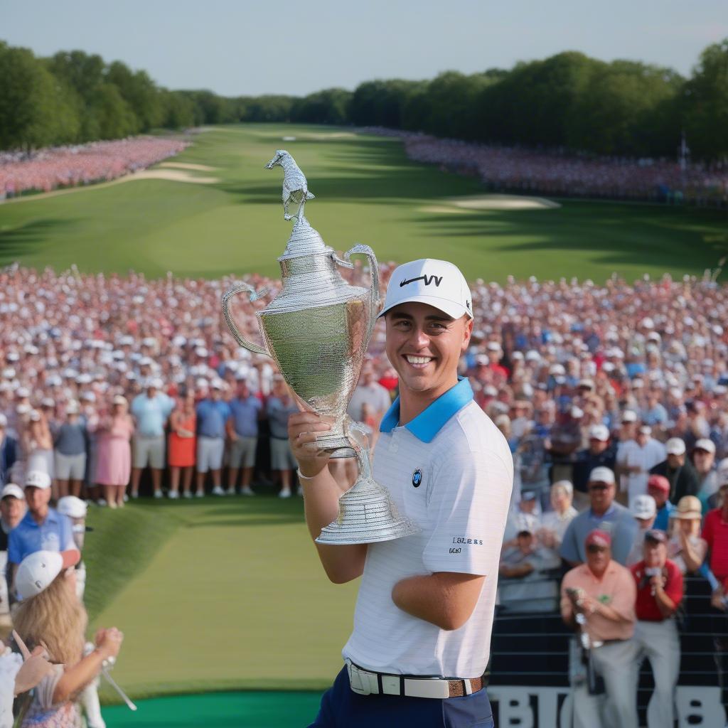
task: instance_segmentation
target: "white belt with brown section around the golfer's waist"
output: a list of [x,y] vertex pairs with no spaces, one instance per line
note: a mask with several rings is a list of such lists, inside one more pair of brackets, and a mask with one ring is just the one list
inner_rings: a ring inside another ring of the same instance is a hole
[[448,697],[472,695],[483,687],[483,678],[419,678],[373,673],[345,660],[349,686],[357,695],[400,695],[405,697]]

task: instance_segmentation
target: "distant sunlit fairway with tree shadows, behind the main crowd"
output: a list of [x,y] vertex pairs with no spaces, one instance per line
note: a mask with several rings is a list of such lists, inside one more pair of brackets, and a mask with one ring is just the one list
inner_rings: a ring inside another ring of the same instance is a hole
[[[295,141],[284,141],[294,136]],[[133,268],[194,277],[279,274],[288,240],[276,149],[296,157],[317,199],[306,216],[333,248],[371,245],[381,260],[448,258],[475,279],[702,274],[728,250],[725,212],[561,200],[561,207],[456,207],[483,194],[475,178],[416,165],[400,142],[329,127],[215,127],[173,162],[215,183],[159,179],[0,205],[0,264],[87,272]],[[169,169],[169,168],[167,168]]]

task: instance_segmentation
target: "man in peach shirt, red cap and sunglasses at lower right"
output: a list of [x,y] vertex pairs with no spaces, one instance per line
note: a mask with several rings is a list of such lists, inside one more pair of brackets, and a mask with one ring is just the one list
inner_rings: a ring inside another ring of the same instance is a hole
[[[620,728],[637,728],[633,648],[637,589],[629,569],[612,559],[612,538],[595,529],[584,539],[586,563],[561,582],[561,617],[582,630],[590,644],[590,664],[604,679],[606,703]],[[580,615],[577,617],[577,615]],[[586,684],[574,689],[574,728],[602,725],[599,701]]]

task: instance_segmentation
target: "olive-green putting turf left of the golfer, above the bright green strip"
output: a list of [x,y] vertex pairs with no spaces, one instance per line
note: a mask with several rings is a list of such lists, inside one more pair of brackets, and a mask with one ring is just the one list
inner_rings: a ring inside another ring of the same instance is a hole
[[130,695],[320,690],[341,668],[357,584],[325,578],[301,499],[142,500],[90,523],[92,627],[124,631]]

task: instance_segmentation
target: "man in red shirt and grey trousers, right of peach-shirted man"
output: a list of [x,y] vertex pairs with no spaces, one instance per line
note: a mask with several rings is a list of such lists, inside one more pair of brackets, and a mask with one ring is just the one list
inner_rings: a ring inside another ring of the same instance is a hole
[[672,726],[673,702],[680,671],[680,639],[675,612],[683,598],[680,569],[668,559],[665,531],[651,529],[644,535],[644,559],[631,567],[637,585],[634,649],[635,695],[639,666],[645,657],[652,665],[654,692],[647,707],[651,726]]

